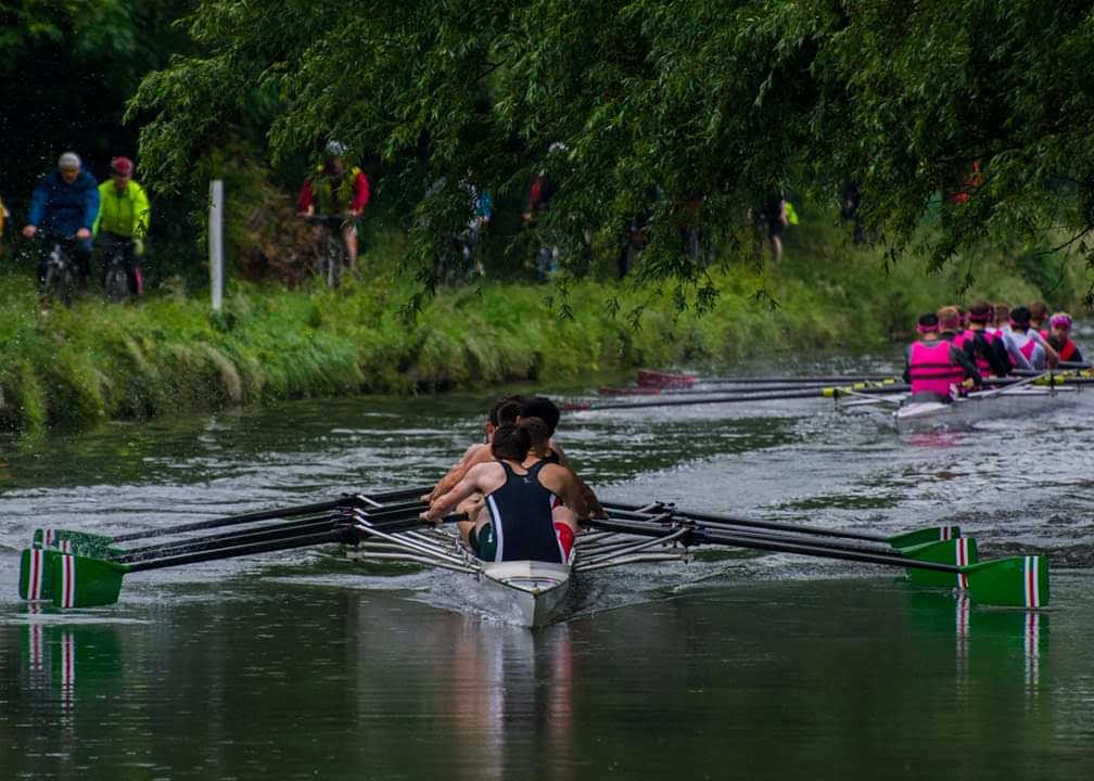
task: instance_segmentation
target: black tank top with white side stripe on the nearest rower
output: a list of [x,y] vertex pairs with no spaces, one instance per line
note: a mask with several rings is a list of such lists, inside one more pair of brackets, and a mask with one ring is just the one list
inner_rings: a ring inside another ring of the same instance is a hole
[[[487,494],[492,528],[479,533],[480,538],[491,536],[497,543],[491,560],[565,563],[551,518],[555,494],[539,483],[539,470],[547,462],[536,462],[524,475],[503,461],[498,463],[505,470],[505,483]],[[489,547],[482,546],[482,552]]]

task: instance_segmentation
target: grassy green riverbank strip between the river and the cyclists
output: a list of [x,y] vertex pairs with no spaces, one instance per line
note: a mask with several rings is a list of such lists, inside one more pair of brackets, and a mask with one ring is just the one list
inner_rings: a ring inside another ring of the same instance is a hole
[[[550,287],[487,281],[442,289],[407,322],[399,310],[414,282],[396,270],[391,243],[362,258],[376,269],[371,278],[339,291],[232,282],[219,315],[206,295],[179,291],[136,305],[85,298],[43,310],[32,280],[9,275],[0,277],[0,428],[40,432],[272,399],[580,380],[640,365],[724,370],[770,350],[877,348],[919,312],[955,300],[964,271],[927,277],[907,260],[886,272],[880,258],[831,226],[802,225],[788,232],[778,267],[713,270],[722,292],[709,313],[678,311],[671,291],[587,280],[569,291],[570,319],[559,317],[557,295],[547,300]],[[977,267],[966,298],[1052,301],[1002,256]],[[760,289],[776,305],[755,298]]]

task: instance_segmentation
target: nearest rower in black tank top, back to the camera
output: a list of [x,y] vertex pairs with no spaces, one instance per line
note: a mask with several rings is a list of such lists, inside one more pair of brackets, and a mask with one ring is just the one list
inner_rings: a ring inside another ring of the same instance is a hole
[[[562,500],[572,515],[584,518],[589,508],[573,479],[573,473],[558,464],[537,461],[525,468],[532,447],[527,426],[504,424],[490,443],[496,461],[478,464],[451,491],[438,498],[421,514],[434,522],[476,492],[486,497],[488,517],[480,517],[467,531],[466,543],[484,561],[552,561],[568,563],[577,528],[567,523],[567,513],[555,506]],[[558,521],[569,535],[556,532]]]

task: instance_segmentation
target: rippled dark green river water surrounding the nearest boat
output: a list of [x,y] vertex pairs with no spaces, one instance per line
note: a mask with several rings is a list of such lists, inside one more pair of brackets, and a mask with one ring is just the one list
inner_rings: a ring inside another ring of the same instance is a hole
[[0,441],[0,778],[1089,776],[1094,394],[919,436],[822,401],[560,429],[608,498],[882,532],[956,521],[984,556],[1051,551],[1040,614],[788,556],[595,573],[579,614],[535,634],[446,609],[458,575],[370,575],[333,550],[128,575],[107,608],[15,596],[36,526],[421,485],[488,403],[300,401]]

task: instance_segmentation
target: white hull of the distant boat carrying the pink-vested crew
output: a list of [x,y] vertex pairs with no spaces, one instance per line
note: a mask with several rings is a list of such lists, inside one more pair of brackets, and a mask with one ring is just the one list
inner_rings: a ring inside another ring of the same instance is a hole
[[1078,399],[1080,387],[1004,387],[970,393],[948,404],[915,401],[910,400],[908,394],[887,394],[872,398],[843,397],[838,399],[838,404],[846,411],[884,416],[884,420],[899,432],[915,432],[968,428],[985,420],[1038,415],[1073,404]]

